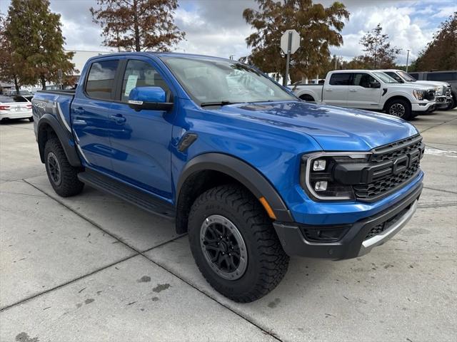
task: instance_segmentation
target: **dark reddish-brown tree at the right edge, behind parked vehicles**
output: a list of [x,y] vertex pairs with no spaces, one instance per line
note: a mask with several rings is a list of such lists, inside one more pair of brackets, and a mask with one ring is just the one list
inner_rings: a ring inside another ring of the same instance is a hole
[[418,71],[431,69],[455,70],[457,66],[457,12],[440,24],[438,31],[433,36],[433,41],[428,43],[422,51],[413,68]]

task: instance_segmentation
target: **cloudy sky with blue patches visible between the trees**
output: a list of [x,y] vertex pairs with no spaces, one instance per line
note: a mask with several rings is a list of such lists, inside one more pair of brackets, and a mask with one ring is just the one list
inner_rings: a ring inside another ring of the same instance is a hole
[[[0,0],[6,13],[9,0]],[[331,0],[315,1],[324,5]],[[455,0],[343,0],[351,17],[343,29],[344,45],[332,53],[351,59],[361,54],[358,41],[363,33],[378,23],[388,33],[393,45],[402,48],[399,63],[406,63],[406,50],[416,58],[433,32],[448,16],[457,11]],[[101,28],[91,21],[89,8],[96,0],[51,0],[51,10],[61,14],[66,48],[71,50],[109,51],[101,46]],[[203,53],[238,59],[249,53],[244,39],[251,33],[241,16],[243,9],[254,7],[253,0],[179,0],[176,25],[186,31],[186,41],[176,46],[179,52]]]

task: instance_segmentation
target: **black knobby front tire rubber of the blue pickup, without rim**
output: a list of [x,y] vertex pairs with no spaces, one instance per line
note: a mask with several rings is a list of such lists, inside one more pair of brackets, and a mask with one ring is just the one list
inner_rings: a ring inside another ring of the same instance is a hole
[[[259,272],[258,281],[256,284],[253,284],[251,291],[244,294],[222,294],[240,303],[255,301],[268,294],[283,279],[288,269],[289,257],[283,251],[281,242],[271,224],[271,219],[266,216],[258,200],[243,187],[238,185],[221,185],[207,190],[196,199],[192,205],[189,217],[193,217],[197,208],[214,199],[233,207],[241,215],[243,220],[246,220],[247,226],[251,227],[251,234],[256,239],[258,254],[261,255],[261,259],[259,260],[261,263],[261,272]],[[189,239],[191,239],[191,234],[189,234]],[[206,276],[205,271],[200,266],[199,269],[206,281],[217,291],[220,291],[215,284],[211,283],[211,279]]]

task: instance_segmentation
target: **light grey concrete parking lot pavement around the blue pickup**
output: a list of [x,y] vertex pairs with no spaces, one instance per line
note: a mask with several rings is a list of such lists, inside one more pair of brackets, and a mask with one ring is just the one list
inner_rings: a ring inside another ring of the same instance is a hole
[[291,259],[251,304],[206,284],[170,222],[89,187],[58,197],[33,124],[1,124],[0,340],[455,341],[457,110],[412,123],[427,149],[411,222],[358,259]]

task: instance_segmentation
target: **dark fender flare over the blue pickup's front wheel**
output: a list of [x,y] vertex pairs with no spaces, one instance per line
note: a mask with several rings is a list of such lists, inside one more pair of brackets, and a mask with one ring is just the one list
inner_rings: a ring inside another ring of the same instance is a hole
[[265,197],[278,221],[293,222],[291,212],[283,202],[281,195],[278,194],[261,172],[243,162],[243,160],[223,153],[210,152],[192,158],[186,164],[179,177],[178,185],[176,186],[176,199],[179,199],[181,187],[187,178],[195,172],[204,170],[219,171],[233,177],[251,191],[257,199]]

